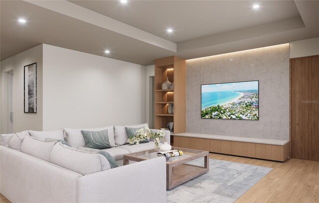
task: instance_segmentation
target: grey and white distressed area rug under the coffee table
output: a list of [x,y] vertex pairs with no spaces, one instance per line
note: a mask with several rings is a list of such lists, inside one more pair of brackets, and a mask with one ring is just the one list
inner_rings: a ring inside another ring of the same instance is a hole
[[209,159],[209,172],[167,191],[167,203],[233,203],[271,170]]

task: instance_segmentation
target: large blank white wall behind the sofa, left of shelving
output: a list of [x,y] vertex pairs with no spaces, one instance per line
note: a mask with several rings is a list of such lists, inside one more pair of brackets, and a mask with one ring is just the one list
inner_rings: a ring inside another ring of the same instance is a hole
[[43,130],[146,122],[146,67],[43,45]]

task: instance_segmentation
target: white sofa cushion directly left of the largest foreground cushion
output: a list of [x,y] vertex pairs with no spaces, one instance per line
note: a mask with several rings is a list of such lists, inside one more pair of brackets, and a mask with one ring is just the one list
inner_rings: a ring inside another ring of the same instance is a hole
[[21,144],[21,152],[44,161],[49,161],[51,150],[55,143],[56,142],[45,142],[26,135]]

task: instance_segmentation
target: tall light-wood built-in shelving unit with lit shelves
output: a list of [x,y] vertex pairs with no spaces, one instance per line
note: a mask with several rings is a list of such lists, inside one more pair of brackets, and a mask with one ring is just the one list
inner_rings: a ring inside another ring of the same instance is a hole
[[[174,89],[162,90],[168,77]],[[168,114],[168,104],[174,104],[174,113]],[[173,122],[173,133],[186,130],[186,61],[176,56],[155,60],[155,128],[165,128]]]

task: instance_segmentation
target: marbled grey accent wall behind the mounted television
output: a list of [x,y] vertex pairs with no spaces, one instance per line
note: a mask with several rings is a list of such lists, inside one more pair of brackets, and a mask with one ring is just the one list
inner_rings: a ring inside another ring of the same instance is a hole
[[[186,61],[186,131],[289,140],[289,44]],[[259,80],[259,120],[201,119],[202,84]]]

